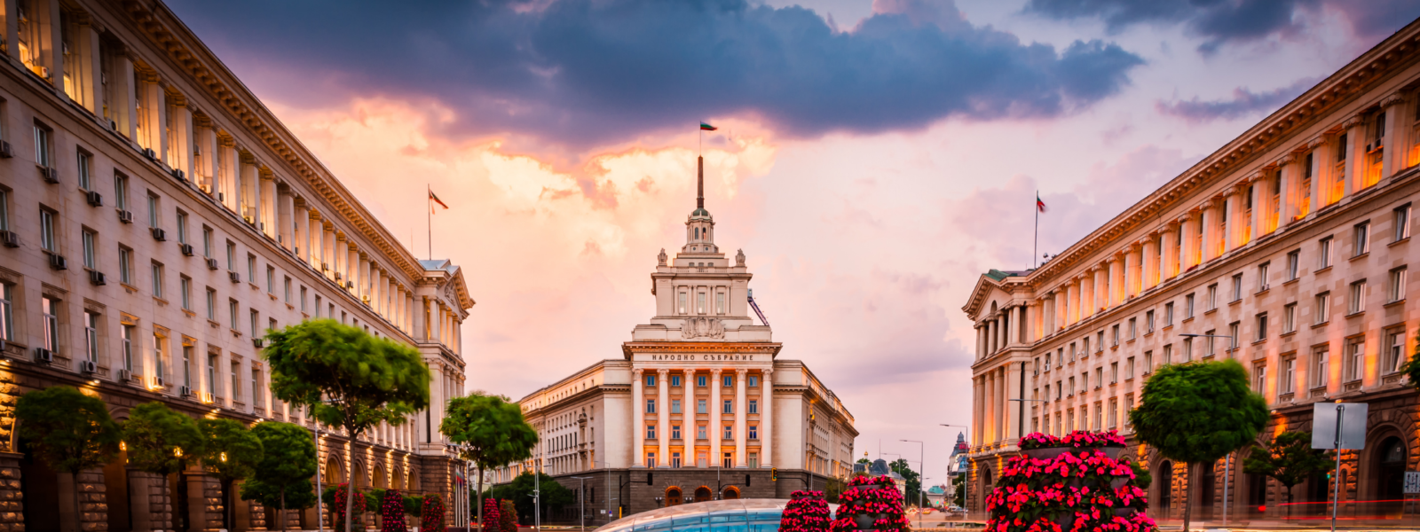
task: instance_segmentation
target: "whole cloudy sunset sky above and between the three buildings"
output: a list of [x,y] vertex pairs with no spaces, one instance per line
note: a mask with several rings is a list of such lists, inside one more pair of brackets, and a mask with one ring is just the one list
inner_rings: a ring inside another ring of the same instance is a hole
[[[1402,0],[169,6],[406,247],[463,267],[469,390],[518,399],[622,356],[656,254],[684,244],[701,150],[716,243],[744,251],[780,358],[842,399],[858,453],[922,460],[929,484],[961,431],[940,424],[971,420],[980,274],[1066,248],[1420,17]],[[420,184],[450,207],[432,228]]]

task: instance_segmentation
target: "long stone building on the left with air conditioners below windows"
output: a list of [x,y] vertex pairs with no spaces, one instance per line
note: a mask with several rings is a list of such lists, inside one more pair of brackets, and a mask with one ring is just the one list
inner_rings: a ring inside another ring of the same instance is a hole
[[464,382],[460,268],[415,258],[162,3],[7,0],[0,18],[0,529],[264,528],[197,465],[163,478],[119,455],[75,487],[27,454],[14,406],[62,384],[121,421],[162,401],[314,430],[260,356],[267,329],[308,318],[416,346],[435,379],[409,423],[322,434],[324,480],[452,492],[436,427]]

